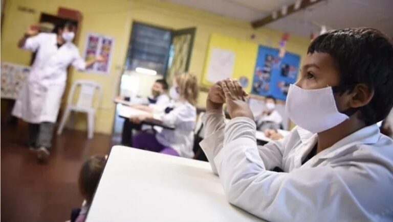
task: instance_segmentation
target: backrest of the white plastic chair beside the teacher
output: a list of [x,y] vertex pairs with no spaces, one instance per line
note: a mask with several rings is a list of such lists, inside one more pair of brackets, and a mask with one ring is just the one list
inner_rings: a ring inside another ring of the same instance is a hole
[[[102,91],[101,85],[97,82],[90,80],[77,80],[72,84],[70,95],[68,97],[68,104],[72,104],[74,93],[77,87],[80,87],[78,100],[76,102],[77,107],[81,108],[94,108],[96,109],[101,101]],[[98,91],[98,99],[95,106],[93,106],[94,95]]]

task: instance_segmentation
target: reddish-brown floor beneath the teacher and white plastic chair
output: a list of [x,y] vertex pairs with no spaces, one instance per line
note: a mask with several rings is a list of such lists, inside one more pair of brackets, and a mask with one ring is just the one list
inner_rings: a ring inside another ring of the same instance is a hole
[[51,158],[39,164],[27,149],[27,124],[1,128],[1,221],[65,221],[79,207],[79,168],[86,157],[105,155],[110,135],[64,130],[54,137]]

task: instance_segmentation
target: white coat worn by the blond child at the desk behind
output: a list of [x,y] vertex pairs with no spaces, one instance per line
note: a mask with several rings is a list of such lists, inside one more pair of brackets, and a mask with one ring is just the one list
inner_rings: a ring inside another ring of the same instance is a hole
[[181,157],[192,158],[194,145],[194,128],[197,109],[188,102],[175,102],[173,110],[167,114],[154,114],[163,124],[174,126],[174,130],[162,129],[156,134],[157,140],[176,150]]

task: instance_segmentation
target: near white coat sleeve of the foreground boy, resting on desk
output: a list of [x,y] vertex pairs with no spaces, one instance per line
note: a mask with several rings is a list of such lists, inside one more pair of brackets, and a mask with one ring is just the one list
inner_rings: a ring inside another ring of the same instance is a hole
[[[223,147],[214,158],[228,201],[269,221],[372,220],[357,198],[366,195],[361,198],[364,203],[376,198],[359,189],[359,184],[373,192],[389,188],[363,176],[367,169],[352,162],[337,163],[334,168],[325,165],[269,171],[270,160],[257,149],[255,122],[246,117],[227,123]],[[386,174],[386,169],[378,170]]]

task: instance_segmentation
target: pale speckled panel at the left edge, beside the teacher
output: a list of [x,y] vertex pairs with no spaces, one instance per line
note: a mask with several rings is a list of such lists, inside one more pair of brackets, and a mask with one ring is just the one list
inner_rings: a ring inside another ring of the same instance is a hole
[[9,62],[1,63],[1,97],[16,100],[19,91],[27,81],[30,66]]

